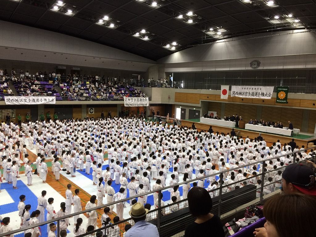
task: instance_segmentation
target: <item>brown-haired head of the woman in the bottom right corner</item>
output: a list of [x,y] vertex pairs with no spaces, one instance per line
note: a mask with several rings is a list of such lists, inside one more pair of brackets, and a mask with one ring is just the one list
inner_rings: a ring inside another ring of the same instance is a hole
[[263,208],[267,237],[316,236],[315,200],[302,193],[276,195],[267,200]]

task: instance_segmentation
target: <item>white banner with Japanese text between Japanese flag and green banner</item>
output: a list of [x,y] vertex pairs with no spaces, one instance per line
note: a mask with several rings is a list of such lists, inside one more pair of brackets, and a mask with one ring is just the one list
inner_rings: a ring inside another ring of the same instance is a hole
[[271,99],[273,86],[232,86],[230,96]]

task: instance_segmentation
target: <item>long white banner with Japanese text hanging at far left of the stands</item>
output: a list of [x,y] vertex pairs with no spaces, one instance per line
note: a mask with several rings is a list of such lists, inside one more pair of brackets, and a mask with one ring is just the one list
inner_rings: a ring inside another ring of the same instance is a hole
[[4,96],[6,105],[55,104],[55,96]]

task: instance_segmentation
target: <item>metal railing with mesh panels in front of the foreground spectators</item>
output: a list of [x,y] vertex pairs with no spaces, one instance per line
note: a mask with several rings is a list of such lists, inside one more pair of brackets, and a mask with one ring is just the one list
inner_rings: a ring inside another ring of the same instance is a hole
[[[289,165],[292,165],[293,163],[302,163],[305,162],[305,160],[296,162],[297,153],[302,151],[307,151],[309,149],[315,149],[315,147],[307,148],[304,150],[300,150],[298,152],[292,152],[287,155],[293,155],[292,163]],[[213,209],[212,213],[218,215],[220,218],[225,218],[227,216],[231,216],[237,211],[245,210],[246,207],[262,203],[262,201],[266,198],[269,198],[281,191],[282,187],[282,176],[277,177],[278,171],[281,172],[287,167],[284,165],[283,167],[279,167],[270,171],[264,171],[264,168],[262,168],[262,173],[258,173],[256,176],[247,177],[246,179],[242,179],[239,181],[236,181],[231,184],[225,184],[223,181],[223,176],[226,176],[226,174],[230,174],[231,172],[235,172],[234,169],[242,170],[242,173],[244,173],[244,169],[250,168],[250,166],[254,166],[257,164],[260,164],[260,167],[264,167],[265,163],[268,163],[270,160],[276,160],[277,158],[284,157],[285,155],[280,155],[274,158],[265,159],[262,161],[256,161],[250,164],[246,164],[244,166],[240,166],[238,168],[228,169],[227,171],[217,172],[212,175],[206,175],[204,178],[214,179],[216,180],[215,176],[219,176],[218,184],[219,186],[216,189],[208,191],[212,197],[213,201]],[[316,156],[312,156],[308,160],[316,162]],[[236,173],[235,173],[236,177]],[[269,182],[268,178],[274,177],[273,181]],[[140,196],[153,194],[155,192],[158,192],[158,207],[154,210],[150,210],[146,216],[146,220],[150,223],[153,223],[157,226],[160,237],[169,237],[169,236],[183,236],[185,226],[188,223],[191,223],[195,218],[191,216],[190,211],[188,209],[187,199],[183,199],[179,202],[171,203],[162,206],[161,202],[161,193],[163,191],[167,191],[169,188],[172,188],[174,186],[181,186],[186,183],[192,184],[193,182],[197,182],[201,178],[195,178],[188,180],[186,182],[181,182],[175,185],[167,186],[158,190],[154,191],[148,191],[146,194],[140,194],[133,197],[128,197],[120,201],[112,202],[109,204],[104,204],[101,206],[97,206],[95,208],[91,208],[88,210],[83,210],[80,212],[72,213],[67,216],[58,217],[46,222],[42,222],[37,225],[28,226],[25,228],[20,228],[17,230],[13,230],[7,233],[0,234],[0,237],[3,236],[9,236],[10,234],[19,234],[23,231],[26,231],[31,228],[36,228],[43,226],[45,224],[50,224],[52,222],[57,222],[57,227],[59,226],[59,222],[65,218],[70,218],[76,215],[84,214],[92,210],[97,210],[100,208],[104,208],[110,205],[115,205],[122,202],[127,202],[129,200],[135,199]],[[258,184],[256,180],[261,180],[261,183]],[[246,182],[245,184],[243,184]],[[257,184],[255,183],[257,182]],[[253,183],[253,184],[252,184]],[[236,186],[240,186],[242,184],[243,187],[241,188],[235,188]],[[276,188],[271,188],[271,185],[276,184]],[[154,204],[155,205],[155,204]],[[3,216],[4,217],[4,216]],[[115,224],[112,224],[112,227],[116,228],[116,225],[119,225],[119,235],[124,232],[124,227],[126,224],[133,225],[134,222],[131,218],[125,219],[124,221],[117,222]],[[95,233],[98,231],[104,231],[104,233],[107,233],[107,231],[113,231],[113,228],[111,226],[107,225],[106,227],[96,229],[92,232],[88,232],[85,234],[80,235],[80,237],[87,236],[87,237],[94,237]],[[46,231],[46,229],[42,228],[43,231]],[[111,235],[113,236],[113,235]],[[57,237],[59,237],[59,233],[57,233]]]

